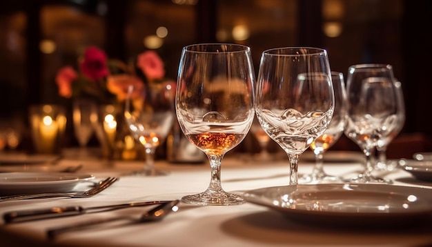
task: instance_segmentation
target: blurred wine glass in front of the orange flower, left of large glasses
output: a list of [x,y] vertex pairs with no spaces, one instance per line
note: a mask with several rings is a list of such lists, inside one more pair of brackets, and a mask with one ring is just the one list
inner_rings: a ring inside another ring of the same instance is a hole
[[174,88],[169,83],[147,83],[128,87],[124,116],[132,136],[146,151],[145,166],[135,175],[159,176],[155,169],[156,148],[164,143],[174,119]]

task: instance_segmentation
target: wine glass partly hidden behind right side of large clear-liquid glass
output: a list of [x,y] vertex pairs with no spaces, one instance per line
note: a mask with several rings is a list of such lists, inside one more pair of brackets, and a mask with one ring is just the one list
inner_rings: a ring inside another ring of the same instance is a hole
[[324,153],[335,144],[344,133],[345,128],[346,89],[344,75],[341,72],[332,71],[331,80],[335,90],[335,111],[324,133],[315,139],[310,146],[315,154],[315,166],[311,174],[304,175],[300,179],[301,184],[321,184],[342,181],[340,177],[326,174],[323,168]]

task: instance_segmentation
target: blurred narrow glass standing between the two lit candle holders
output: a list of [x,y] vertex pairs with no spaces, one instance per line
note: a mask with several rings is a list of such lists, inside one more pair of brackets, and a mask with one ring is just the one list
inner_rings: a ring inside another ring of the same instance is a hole
[[74,99],[72,102],[72,121],[75,137],[81,150],[86,148],[93,135],[93,123],[97,119],[97,106],[92,99]]

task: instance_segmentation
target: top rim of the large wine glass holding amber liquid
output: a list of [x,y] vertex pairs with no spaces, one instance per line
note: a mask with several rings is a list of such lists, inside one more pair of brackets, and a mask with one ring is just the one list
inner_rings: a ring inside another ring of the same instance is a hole
[[233,53],[233,52],[250,52],[249,46],[238,43],[195,43],[184,46],[184,51],[195,53]]

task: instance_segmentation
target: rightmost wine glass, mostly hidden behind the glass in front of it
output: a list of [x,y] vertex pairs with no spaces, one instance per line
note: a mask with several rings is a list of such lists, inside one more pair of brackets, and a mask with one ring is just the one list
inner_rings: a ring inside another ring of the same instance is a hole
[[402,130],[405,124],[405,103],[404,103],[404,93],[402,92],[402,83],[400,81],[395,81],[396,88],[396,99],[397,99],[397,121],[393,122],[391,130],[386,132],[388,135],[383,135],[377,141],[376,151],[377,151],[377,164],[375,164],[375,169],[377,170],[393,170],[395,165],[393,163],[387,162],[387,148],[389,144]]

